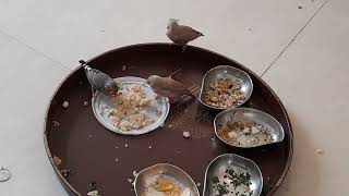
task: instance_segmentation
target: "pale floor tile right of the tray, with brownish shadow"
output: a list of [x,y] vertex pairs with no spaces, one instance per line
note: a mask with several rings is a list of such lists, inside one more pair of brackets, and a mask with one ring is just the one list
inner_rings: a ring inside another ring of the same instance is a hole
[[348,1],[329,1],[264,76],[294,128],[291,172],[277,195],[347,193],[348,9]]

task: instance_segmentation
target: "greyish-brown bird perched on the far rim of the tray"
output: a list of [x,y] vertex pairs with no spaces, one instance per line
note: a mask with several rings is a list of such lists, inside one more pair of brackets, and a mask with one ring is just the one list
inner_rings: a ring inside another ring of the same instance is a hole
[[179,20],[170,19],[167,24],[167,37],[173,41],[173,44],[183,46],[182,51],[185,50],[186,44],[204,36],[204,34],[195,30],[190,26],[179,25]]

